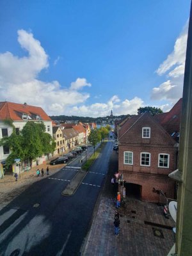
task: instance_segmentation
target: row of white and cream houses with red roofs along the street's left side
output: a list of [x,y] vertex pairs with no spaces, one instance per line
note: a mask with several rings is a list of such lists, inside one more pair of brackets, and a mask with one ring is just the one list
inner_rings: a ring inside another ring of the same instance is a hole
[[[13,127],[8,125],[6,120],[12,120],[16,132],[19,133],[27,122],[43,122],[45,132],[49,133],[56,141],[55,155],[60,155],[76,145],[87,143],[91,129],[96,127],[96,124],[60,124],[56,125],[51,118],[45,113],[44,109],[28,104],[17,104],[13,102],[0,102],[0,140],[4,136],[10,136]],[[0,178],[4,174],[24,172],[29,168],[38,164],[44,163],[49,156],[42,156],[33,159],[29,166],[29,161],[26,159],[23,163],[13,164],[9,170],[5,168],[6,158],[10,154],[10,148],[0,147]]]

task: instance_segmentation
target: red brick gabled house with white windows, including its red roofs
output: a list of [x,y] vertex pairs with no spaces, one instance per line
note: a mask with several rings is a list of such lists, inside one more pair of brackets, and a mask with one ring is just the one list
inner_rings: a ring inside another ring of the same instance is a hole
[[175,198],[177,184],[168,175],[177,169],[181,108],[182,99],[167,113],[145,112],[116,124],[118,172],[128,196],[148,202]]

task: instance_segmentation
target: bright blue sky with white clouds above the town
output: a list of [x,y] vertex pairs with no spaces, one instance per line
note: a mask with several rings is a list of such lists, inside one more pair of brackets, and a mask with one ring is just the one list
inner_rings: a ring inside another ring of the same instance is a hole
[[168,111],[182,97],[189,0],[0,2],[0,101],[49,115]]

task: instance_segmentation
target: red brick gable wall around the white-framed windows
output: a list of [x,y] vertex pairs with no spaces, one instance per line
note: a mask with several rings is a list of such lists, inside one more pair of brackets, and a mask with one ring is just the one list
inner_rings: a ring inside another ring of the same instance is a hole
[[[150,127],[150,138],[142,138],[142,127]],[[177,168],[175,141],[150,115],[140,118],[129,132],[119,138],[118,170],[124,180],[142,186],[141,199],[148,202],[164,202],[164,198],[152,190],[161,189],[169,198],[174,197],[175,182],[168,177]],[[133,165],[124,164],[124,151],[133,152]],[[140,153],[150,153],[150,166],[140,166]],[[170,154],[169,168],[158,167],[159,154]]]

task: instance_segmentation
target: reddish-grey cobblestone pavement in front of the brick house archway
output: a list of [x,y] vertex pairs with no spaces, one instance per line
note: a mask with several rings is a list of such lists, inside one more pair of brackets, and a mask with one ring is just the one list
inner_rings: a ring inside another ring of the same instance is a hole
[[[172,218],[166,219],[163,207],[128,198],[120,207],[120,235],[114,234],[115,202],[101,196],[99,208],[84,246],[84,256],[165,256],[175,236]],[[148,221],[148,222],[147,222]],[[160,227],[159,227],[160,226]]]

